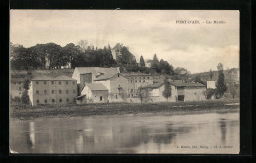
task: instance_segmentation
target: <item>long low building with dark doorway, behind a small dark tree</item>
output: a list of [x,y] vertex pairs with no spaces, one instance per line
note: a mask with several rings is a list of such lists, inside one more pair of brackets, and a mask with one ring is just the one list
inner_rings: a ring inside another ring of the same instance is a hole
[[186,83],[181,81],[169,81],[171,84],[171,96],[166,99],[163,96],[164,81],[143,87],[152,102],[177,102],[177,101],[201,101],[205,100],[205,85],[201,83]]

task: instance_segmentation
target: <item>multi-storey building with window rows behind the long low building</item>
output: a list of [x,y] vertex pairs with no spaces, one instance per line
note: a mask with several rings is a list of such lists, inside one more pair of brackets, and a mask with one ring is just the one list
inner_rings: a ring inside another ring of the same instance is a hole
[[128,78],[128,97],[138,97],[138,89],[153,84],[153,76],[145,73],[125,73]]

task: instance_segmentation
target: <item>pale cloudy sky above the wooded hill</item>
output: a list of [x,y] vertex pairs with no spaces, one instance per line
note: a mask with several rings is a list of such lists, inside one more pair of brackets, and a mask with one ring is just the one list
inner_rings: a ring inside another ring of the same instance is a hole
[[[177,21],[198,20],[200,24]],[[212,24],[206,22],[212,21]],[[213,24],[223,21],[224,24]],[[87,40],[128,46],[137,62],[157,54],[191,73],[239,67],[238,10],[11,10],[10,41],[24,47]]]

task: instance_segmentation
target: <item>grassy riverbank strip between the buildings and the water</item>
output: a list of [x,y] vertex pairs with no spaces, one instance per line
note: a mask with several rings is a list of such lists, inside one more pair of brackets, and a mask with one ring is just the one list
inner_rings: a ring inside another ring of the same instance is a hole
[[140,113],[173,113],[191,114],[207,112],[239,111],[238,100],[207,100],[197,102],[163,102],[163,103],[109,103],[67,106],[36,106],[21,108],[11,106],[10,117],[18,119],[33,119],[40,117],[75,117],[100,116]]

